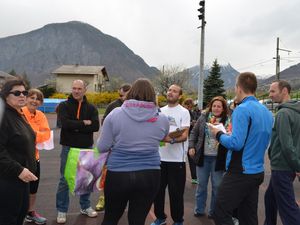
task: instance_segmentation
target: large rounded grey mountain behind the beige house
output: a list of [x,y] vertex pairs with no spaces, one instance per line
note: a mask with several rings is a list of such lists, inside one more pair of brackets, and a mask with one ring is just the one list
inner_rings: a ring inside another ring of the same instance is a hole
[[43,84],[63,64],[105,66],[109,76],[127,82],[158,73],[117,38],[78,21],[0,38],[0,52],[0,70],[26,73],[34,86]]

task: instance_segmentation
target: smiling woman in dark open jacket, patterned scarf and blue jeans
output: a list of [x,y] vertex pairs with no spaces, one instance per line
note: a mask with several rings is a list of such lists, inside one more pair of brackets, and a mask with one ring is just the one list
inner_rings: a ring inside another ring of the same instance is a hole
[[205,216],[207,184],[209,177],[212,184],[211,202],[208,218],[212,218],[217,196],[217,189],[225,171],[227,150],[220,145],[208,129],[210,124],[223,124],[227,132],[231,132],[227,102],[222,96],[214,97],[205,112],[198,118],[189,138],[189,154],[194,157],[198,186],[196,190],[196,206],[194,215]]

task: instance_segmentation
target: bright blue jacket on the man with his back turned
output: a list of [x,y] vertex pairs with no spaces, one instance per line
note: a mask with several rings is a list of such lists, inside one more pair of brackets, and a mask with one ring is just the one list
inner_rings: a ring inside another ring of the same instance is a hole
[[272,113],[254,96],[243,99],[232,114],[232,134],[218,133],[217,139],[228,149],[226,169],[257,174],[264,171],[264,155],[271,138]]

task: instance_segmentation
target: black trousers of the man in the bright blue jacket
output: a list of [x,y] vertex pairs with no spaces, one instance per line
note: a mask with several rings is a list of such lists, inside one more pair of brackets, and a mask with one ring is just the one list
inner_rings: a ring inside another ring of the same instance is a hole
[[232,216],[237,209],[240,225],[257,225],[259,185],[264,173],[226,173],[218,190],[214,221],[216,225],[233,225]]

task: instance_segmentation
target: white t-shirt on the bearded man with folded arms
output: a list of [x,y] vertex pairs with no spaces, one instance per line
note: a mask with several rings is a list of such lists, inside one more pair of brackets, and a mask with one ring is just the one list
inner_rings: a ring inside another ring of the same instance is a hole
[[[168,105],[161,108],[161,112],[168,117],[170,131],[177,128],[190,127],[190,113],[181,105],[169,107]],[[185,142],[170,144],[159,148],[160,160],[164,162],[185,162],[188,150],[188,139]]]

